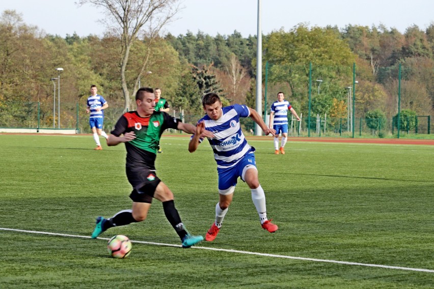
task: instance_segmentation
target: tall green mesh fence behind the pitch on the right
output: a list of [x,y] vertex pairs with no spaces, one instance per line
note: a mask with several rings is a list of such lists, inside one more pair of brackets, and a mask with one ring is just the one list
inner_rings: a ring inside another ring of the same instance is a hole
[[[301,116],[290,135],[402,137],[433,129],[434,77],[409,64],[388,68],[266,65],[265,118],[285,94]],[[290,113],[288,114],[290,116]],[[398,121],[399,120],[399,121]]]

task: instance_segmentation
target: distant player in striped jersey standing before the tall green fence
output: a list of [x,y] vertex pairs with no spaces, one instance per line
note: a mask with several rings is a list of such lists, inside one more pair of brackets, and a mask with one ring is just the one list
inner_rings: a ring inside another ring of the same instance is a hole
[[[276,136],[274,137],[274,153],[282,155],[285,154],[286,140],[288,139],[288,110],[294,115],[297,121],[300,122],[299,115],[295,112],[295,109],[291,106],[289,101],[285,100],[283,92],[277,94],[277,101],[273,102],[270,108],[270,120],[269,127],[276,130]],[[279,148],[279,134],[282,133],[282,142]]]

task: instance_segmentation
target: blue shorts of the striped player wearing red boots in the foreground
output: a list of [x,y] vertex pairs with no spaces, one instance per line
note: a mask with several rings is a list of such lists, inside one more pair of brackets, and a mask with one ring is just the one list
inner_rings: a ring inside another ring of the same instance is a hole
[[248,166],[256,168],[255,154],[253,152],[248,153],[234,166],[217,168],[219,172],[219,190],[226,190],[232,186],[236,186],[238,177],[242,180],[242,173]]

